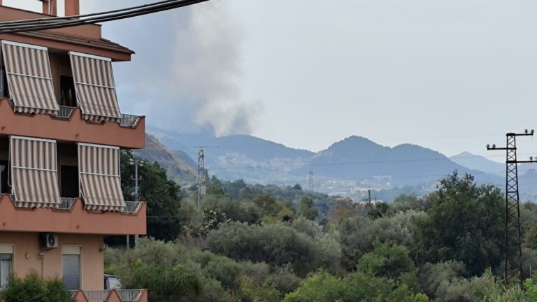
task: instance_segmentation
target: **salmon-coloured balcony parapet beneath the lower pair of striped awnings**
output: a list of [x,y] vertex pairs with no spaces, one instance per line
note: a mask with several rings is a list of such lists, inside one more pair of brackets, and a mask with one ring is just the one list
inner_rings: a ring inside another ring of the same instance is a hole
[[50,208],[15,208],[8,194],[0,198],[0,231],[145,235],[147,204],[138,213],[91,213],[76,199],[70,211]]

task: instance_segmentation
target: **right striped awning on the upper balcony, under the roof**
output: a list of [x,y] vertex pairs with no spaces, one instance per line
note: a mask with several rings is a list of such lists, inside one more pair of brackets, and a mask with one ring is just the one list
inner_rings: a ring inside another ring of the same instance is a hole
[[115,93],[112,61],[105,57],[69,52],[76,99],[86,120],[119,122],[120,106]]

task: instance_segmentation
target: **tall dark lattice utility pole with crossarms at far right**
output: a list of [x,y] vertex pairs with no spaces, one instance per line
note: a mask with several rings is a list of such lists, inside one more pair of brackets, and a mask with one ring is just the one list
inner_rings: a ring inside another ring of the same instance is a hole
[[505,264],[504,284],[522,286],[522,247],[520,245],[520,202],[518,192],[517,164],[534,163],[537,159],[517,160],[517,136],[533,136],[534,130],[527,129],[523,134],[506,134],[506,147],[487,145],[487,150],[506,150],[506,217],[505,217]]

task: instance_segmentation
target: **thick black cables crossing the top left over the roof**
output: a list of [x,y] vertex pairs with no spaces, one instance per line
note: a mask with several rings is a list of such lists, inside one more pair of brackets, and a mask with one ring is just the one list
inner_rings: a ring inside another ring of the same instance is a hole
[[57,29],[64,27],[75,27],[84,24],[95,24],[113,20],[121,20],[129,17],[148,15],[173,8],[191,6],[209,0],[168,0],[157,3],[146,4],[144,6],[135,6],[120,10],[110,10],[104,13],[94,13],[89,15],[80,15],[80,19],[68,17],[46,17],[35,20],[20,20],[0,22],[0,34],[15,34],[25,31],[40,31],[45,29]]

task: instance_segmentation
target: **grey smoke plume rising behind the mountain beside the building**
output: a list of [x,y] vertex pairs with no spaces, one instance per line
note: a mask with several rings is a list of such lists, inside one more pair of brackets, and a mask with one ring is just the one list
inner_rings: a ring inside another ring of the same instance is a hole
[[[146,1],[96,2],[89,10]],[[133,62],[114,65],[122,110],[162,129],[250,134],[258,106],[241,92],[245,29],[230,5],[210,1],[104,24],[103,36],[136,51]]]

